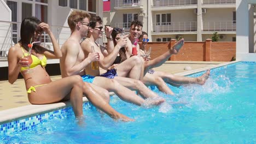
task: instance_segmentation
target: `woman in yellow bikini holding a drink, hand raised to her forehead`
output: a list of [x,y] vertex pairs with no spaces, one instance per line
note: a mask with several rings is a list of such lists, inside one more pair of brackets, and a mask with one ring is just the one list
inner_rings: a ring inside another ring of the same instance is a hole
[[[38,41],[42,32],[49,34],[54,51],[45,49],[39,45],[32,45],[32,64],[30,73],[27,73],[28,58],[24,52],[28,52],[28,44]],[[70,76],[60,80],[51,81],[45,70],[46,57],[60,58],[62,56],[59,44],[50,31],[49,25],[40,22],[36,17],[26,18],[21,23],[21,39],[18,44],[10,48],[8,53],[8,79],[13,84],[19,73],[25,80],[28,100],[31,104],[50,104],[61,100],[70,99],[75,117],[83,117],[83,80],[80,76]],[[26,56],[26,55],[25,55]]]

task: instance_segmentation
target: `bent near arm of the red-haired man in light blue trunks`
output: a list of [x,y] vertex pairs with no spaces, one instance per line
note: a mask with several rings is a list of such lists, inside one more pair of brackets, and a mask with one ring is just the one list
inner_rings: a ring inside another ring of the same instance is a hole
[[[76,64],[77,57],[79,54],[79,49],[73,49],[73,47],[80,47],[79,44],[68,44],[66,45],[66,58],[65,58],[65,70],[66,75],[71,76],[78,74],[80,71],[84,70],[86,65],[90,64],[93,59],[91,57],[85,58],[82,62]],[[95,56],[97,54],[95,53]]]

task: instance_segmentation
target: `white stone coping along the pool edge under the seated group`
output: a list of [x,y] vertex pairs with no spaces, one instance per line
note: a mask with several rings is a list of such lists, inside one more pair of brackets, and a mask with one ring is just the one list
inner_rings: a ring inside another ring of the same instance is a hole
[[[177,73],[176,75],[190,75],[194,73],[199,73],[201,71],[205,71],[207,69],[213,69],[218,67],[223,67],[224,65],[229,65],[233,63],[237,63],[240,61],[232,61],[232,62],[226,62],[222,64],[217,65],[211,65],[209,67],[195,69],[195,70],[189,70],[182,73]],[[113,94],[113,93],[112,93]],[[88,99],[86,97],[83,97],[83,101],[86,102]],[[69,101],[61,102],[61,103],[54,103],[54,104],[45,104],[45,105],[26,105],[21,107],[15,107],[13,109],[3,110],[0,111],[0,124],[12,122],[15,119],[22,119],[26,117],[36,116],[41,113],[46,113],[58,109],[62,109],[63,107],[70,106]]]

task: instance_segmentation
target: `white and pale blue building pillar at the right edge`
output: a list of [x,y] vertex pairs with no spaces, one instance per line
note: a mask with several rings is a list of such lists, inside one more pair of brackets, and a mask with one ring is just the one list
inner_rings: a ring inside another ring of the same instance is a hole
[[236,58],[256,62],[256,0],[236,0]]

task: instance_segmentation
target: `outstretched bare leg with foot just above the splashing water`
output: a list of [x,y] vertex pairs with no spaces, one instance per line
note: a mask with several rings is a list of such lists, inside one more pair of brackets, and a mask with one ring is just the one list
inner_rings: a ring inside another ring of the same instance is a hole
[[188,77],[188,76],[179,76],[179,75],[173,75],[164,73],[161,71],[155,71],[153,75],[158,75],[162,77],[167,83],[170,83],[171,85],[185,85],[185,84],[192,84],[197,83],[199,85],[205,84],[206,80],[208,79],[210,75],[210,70],[207,70],[206,73],[199,77]]

